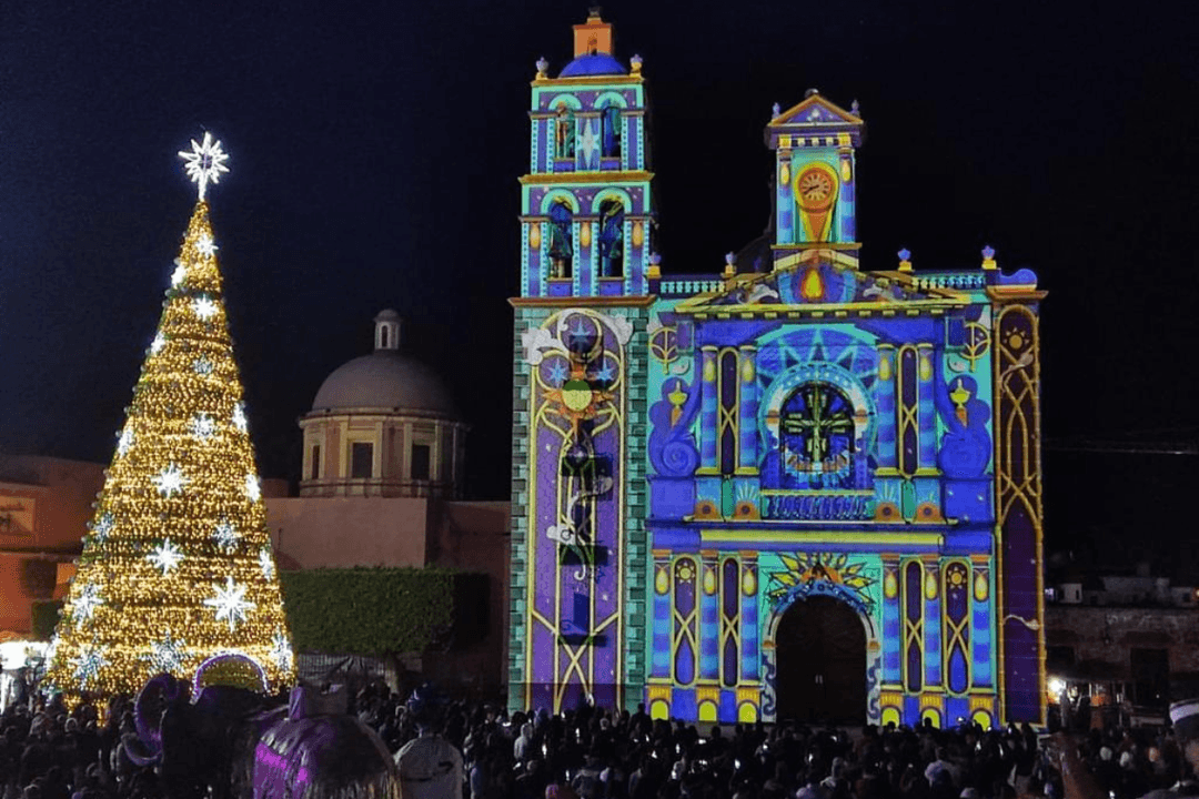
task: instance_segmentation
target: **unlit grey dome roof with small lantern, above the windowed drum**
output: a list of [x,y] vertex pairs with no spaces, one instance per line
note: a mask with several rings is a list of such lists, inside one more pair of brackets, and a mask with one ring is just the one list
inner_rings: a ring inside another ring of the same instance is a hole
[[312,402],[313,411],[355,407],[458,416],[436,373],[399,353],[399,314],[393,310],[375,316],[375,351],[333,370]]

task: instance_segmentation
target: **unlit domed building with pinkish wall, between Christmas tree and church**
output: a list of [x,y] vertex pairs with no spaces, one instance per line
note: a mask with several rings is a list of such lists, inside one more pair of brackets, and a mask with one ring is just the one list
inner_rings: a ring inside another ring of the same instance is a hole
[[296,497],[266,497],[282,569],[436,565],[487,575],[482,634],[426,655],[439,680],[506,679],[508,502],[462,502],[466,424],[438,375],[400,351],[400,319],[375,316],[374,352],[325,380],[300,419]]

